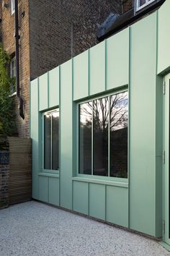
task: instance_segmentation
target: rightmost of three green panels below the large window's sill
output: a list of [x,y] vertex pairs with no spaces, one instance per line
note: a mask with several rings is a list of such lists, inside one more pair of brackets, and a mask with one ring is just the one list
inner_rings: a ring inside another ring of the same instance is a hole
[[128,227],[128,189],[107,186],[106,221]]

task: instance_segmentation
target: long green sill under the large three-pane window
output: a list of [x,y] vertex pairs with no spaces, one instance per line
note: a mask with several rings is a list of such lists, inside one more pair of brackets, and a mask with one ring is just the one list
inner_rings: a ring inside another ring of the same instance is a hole
[[109,186],[115,186],[115,187],[125,187],[128,188],[129,184],[128,182],[116,182],[116,181],[108,181],[105,179],[90,179],[90,178],[81,178],[81,177],[73,177],[73,181],[75,182],[89,182],[89,183],[95,183],[95,184],[103,184],[103,185],[109,185]]

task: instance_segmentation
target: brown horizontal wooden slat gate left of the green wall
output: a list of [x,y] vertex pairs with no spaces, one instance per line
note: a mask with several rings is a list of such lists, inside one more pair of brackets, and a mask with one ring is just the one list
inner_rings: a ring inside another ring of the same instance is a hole
[[32,141],[8,137],[9,140],[9,205],[31,200]]

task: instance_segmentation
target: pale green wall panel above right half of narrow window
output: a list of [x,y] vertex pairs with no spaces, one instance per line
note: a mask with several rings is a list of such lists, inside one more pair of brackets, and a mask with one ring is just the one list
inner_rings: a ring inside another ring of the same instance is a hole
[[60,68],[50,70],[49,74],[49,108],[59,105]]

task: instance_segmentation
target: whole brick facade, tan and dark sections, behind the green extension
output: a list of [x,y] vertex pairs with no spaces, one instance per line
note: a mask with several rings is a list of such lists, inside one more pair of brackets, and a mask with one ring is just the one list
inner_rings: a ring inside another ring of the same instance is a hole
[[[10,0],[1,8],[1,41],[9,54],[15,52],[14,14]],[[131,0],[128,0],[131,3]],[[110,12],[121,14],[121,0],[19,0],[20,88],[24,99],[22,120],[17,111],[20,137],[29,137],[29,81],[98,43],[97,23]],[[16,96],[14,96],[16,97]],[[18,108],[18,101],[16,108]]]

